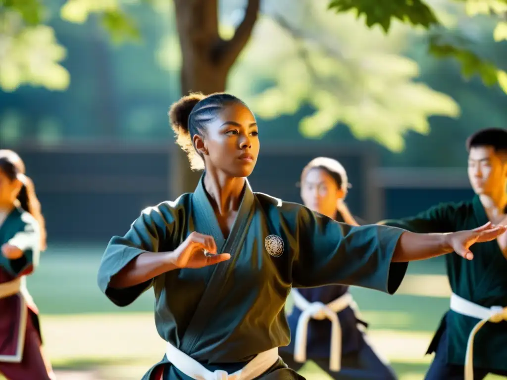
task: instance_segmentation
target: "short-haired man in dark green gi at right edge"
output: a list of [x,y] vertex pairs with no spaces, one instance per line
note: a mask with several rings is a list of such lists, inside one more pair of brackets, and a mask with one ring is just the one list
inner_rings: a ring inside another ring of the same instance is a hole
[[[468,178],[476,193],[473,199],[443,203],[414,217],[381,223],[418,233],[475,229],[488,221],[504,224],[507,130],[480,130],[468,138],[466,148]],[[446,256],[452,289],[450,310],[427,352],[435,352],[426,374],[428,380],[507,375],[507,234],[474,246],[472,251],[472,261]]]

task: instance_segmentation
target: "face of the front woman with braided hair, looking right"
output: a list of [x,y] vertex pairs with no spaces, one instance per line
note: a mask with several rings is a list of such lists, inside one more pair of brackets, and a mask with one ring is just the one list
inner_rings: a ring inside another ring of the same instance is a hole
[[204,138],[194,137],[206,167],[231,177],[247,177],[259,156],[259,130],[251,111],[240,102],[227,104],[218,118],[206,125]]

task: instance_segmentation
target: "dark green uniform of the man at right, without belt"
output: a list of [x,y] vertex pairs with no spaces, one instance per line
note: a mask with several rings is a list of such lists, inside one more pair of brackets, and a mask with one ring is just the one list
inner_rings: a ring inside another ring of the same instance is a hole
[[[471,201],[444,203],[420,214],[381,224],[418,233],[447,233],[475,229],[488,222],[478,196]],[[485,308],[507,306],[507,259],[498,242],[473,245],[473,260],[446,255],[447,275],[454,294]],[[436,352],[426,378],[463,378],[465,351],[470,332],[479,320],[449,310],[433,337],[428,353]],[[487,373],[507,375],[507,322],[488,322],[475,337],[474,380]]]

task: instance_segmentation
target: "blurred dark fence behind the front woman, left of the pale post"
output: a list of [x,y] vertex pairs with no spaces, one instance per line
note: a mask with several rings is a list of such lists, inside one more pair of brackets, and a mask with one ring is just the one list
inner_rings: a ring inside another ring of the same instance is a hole
[[[171,194],[178,171],[167,146],[66,144],[51,147],[10,147],[23,158],[43,206],[50,243],[103,242],[127,231],[148,206]],[[347,203],[352,212],[375,219],[378,209],[369,174],[374,157],[347,147],[314,144],[264,148],[250,183],[256,192],[299,202],[296,183],[314,157],[339,160],[353,184]],[[373,212],[373,214],[372,214]],[[373,216],[372,216],[373,215]]]

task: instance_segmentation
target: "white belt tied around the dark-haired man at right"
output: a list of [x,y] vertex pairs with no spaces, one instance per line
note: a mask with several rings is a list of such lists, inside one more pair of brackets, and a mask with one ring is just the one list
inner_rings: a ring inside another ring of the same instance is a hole
[[492,306],[491,308],[485,308],[484,306],[477,305],[477,303],[470,302],[452,293],[451,310],[461,315],[480,319],[470,332],[470,335],[468,335],[468,342],[466,343],[465,380],[474,380],[475,335],[486,322],[498,323],[507,321],[507,307]]

